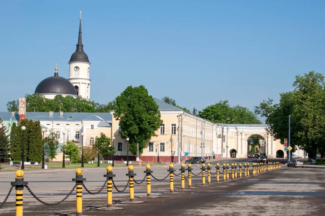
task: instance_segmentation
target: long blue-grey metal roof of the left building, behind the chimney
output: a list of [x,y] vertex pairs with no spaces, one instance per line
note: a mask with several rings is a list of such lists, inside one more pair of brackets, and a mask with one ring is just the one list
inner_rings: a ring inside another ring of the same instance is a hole
[[[69,118],[72,117],[72,118]],[[15,118],[19,119],[18,113],[12,116],[11,112],[0,112],[1,119]],[[26,112],[26,119],[43,120],[43,121],[81,121],[81,120],[95,120],[95,121],[112,121],[112,115],[110,113],[98,113],[98,112],[64,112],[60,116],[59,112],[54,112],[53,115],[49,115],[49,112]]]

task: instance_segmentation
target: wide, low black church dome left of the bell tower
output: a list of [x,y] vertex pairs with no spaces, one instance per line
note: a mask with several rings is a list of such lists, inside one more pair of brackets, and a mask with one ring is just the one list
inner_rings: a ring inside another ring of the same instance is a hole
[[64,77],[55,73],[54,76],[42,80],[36,87],[35,93],[41,94],[66,94],[77,95],[76,89],[72,83]]

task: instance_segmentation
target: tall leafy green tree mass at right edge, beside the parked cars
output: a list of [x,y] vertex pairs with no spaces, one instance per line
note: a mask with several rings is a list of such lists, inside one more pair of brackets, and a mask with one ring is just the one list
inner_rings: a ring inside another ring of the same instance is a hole
[[272,100],[263,101],[255,107],[255,112],[267,117],[266,123],[276,139],[288,138],[288,116],[291,115],[291,144],[299,146],[313,157],[323,148],[325,129],[324,76],[314,71],[295,76],[292,92],[280,94],[280,103],[272,105]]

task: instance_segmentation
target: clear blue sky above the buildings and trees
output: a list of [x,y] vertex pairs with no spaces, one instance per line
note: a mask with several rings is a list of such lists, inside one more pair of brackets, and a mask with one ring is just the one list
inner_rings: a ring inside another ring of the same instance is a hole
[[[253,111],[295,75],[324,73],[325,1],[1,1],[0,111],[39,82],[68,78],[79,11],[90,97],[128,85],[201,110],[229,100]],[[263,118],[261,119],[263,120]]]

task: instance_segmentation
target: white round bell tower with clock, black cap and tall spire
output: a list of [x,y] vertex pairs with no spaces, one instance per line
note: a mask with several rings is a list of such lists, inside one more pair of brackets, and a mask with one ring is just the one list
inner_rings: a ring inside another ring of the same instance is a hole
[[77,95],[90,100],[90,81],[89,68],[90,62],[87,54],[83,49],[84,45],[81,42],[81,11],[79,37],[76,51],[72,54],[69,61],[69,78],[68,80],[76,89]]

